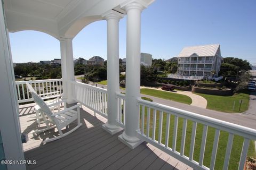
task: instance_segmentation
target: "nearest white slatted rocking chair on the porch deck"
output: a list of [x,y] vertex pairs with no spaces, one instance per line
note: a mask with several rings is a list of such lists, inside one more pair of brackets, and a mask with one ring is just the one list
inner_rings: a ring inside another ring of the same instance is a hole
[[[52,106],[54,105],[58,105],[60,103],[66,103],[66,100],[62,100],[59,101],[55,104],[52,105],[47,105],[45,103],[45,101],[39,97],[36,93],[36,91],[33,89],[33,87],[31,87],[30,84],[27,83],[28,89],[31,92],[31,95],[35,101],[35,103],[40,107],[39,111],[41,112],[42,116],[43,116],[43,120],[46,124],[46,128],[42,129],[42,130],[37,130],[34,132],[34,134],[37,133],[41,133],[53,128],[57,128],[59,131],[59,136],[55,137],[55,138],[51,138],[51,139],[46,139],[43,142],[51,142],[57,139],[60,139],[62,137],[65,137],[66,135],[74,132],[75,130],[77,130],[82,123],[80,123],[80,106],[81,104],[77,104],[75,106],[66,108],[66,104],[65,107],[63,109],[63,111],[58,111],[58,113],[54,113],[52,112],[52,110],[50,109]],[[77,111],[74,111],[74,109],[76,108]],[[77,120],[77,126],[75,126],[75,128],[73,128],[72,130],[66,132],[66,133],[62,133],[61,129],[65,128],[66,126],[68,126],[71,122]]]

